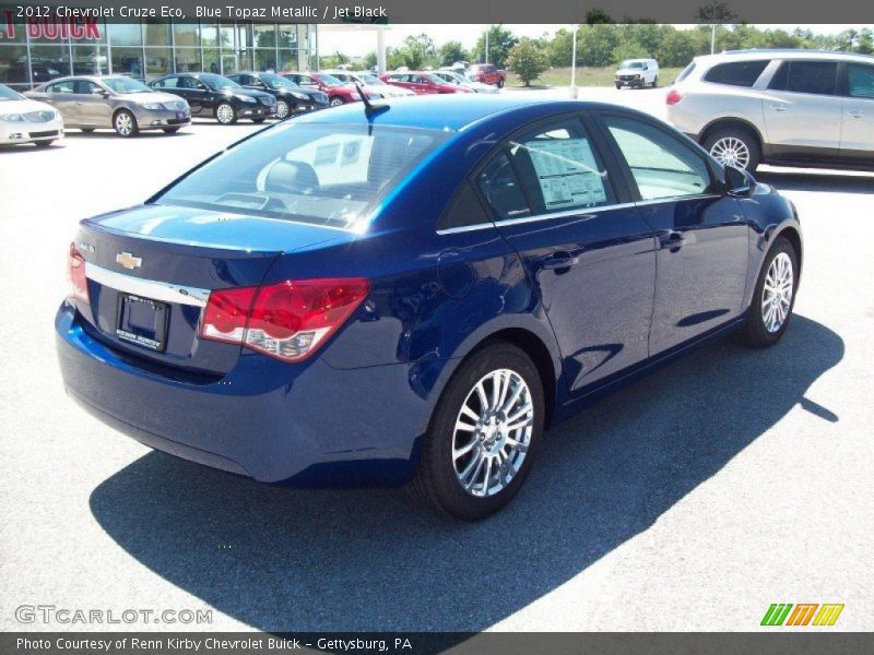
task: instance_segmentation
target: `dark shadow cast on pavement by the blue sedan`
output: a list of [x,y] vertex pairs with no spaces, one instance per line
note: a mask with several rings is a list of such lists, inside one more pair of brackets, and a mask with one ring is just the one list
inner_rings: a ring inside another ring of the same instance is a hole
[[790,409],[839,420],[805,392],[843,350],[801,315],[773,348],[699,349],[550,431],[522,492],[480,523],[397,489],[270,487],[156,452],[91,510],[138,562],[261,630],[479,631],[646,531]]

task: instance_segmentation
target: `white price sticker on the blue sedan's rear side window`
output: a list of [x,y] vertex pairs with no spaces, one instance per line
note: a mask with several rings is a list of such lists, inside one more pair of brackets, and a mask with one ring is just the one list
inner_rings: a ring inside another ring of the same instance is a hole
[[604,177],[588,139],[554,139],[523,144],[531,155],[547,210],[606,202]]

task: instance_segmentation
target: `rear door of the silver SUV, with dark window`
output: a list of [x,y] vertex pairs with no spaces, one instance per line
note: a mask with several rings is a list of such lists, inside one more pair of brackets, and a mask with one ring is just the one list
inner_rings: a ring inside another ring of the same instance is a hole
[[834,157],[843,100],[835,61],[783,61],[765,92],[763,114],[775,157]]

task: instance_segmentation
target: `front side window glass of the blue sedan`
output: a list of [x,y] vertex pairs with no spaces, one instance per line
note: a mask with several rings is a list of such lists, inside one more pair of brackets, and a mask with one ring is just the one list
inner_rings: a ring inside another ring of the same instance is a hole
[[604,122],[631,169],[642,200],[714,190],[707,162],[685,143],[639,120],[606,116]]

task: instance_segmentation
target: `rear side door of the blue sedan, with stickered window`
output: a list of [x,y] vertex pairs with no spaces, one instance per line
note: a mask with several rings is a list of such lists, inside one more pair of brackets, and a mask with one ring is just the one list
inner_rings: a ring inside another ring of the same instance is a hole
[[652,229],[590,128],[577,115],[532,126],[474,178],[540,295],[572,393],[647,358],[656,285]]

